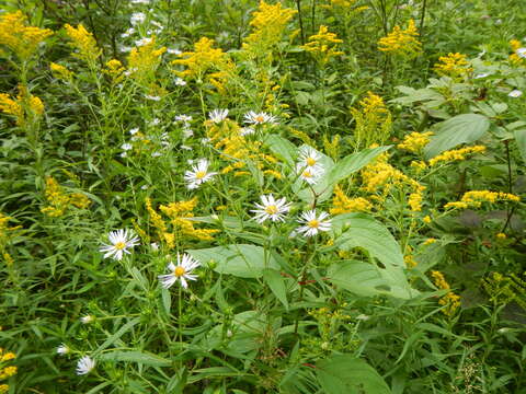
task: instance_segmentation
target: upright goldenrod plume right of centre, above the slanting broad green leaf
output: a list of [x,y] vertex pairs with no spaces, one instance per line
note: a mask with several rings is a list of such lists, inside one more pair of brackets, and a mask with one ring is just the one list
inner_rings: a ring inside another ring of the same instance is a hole
[[391,132],[391,113],[384,100],[367,92],[367,96],[359,101],[362,111],[351,108],[356,127],[354,129],[355,149],[361,146],[370,147],[374,143],[384,143]]

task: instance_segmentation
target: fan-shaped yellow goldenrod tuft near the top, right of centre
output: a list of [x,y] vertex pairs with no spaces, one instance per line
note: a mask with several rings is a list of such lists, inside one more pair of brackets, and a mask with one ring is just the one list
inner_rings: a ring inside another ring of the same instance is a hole
[[422,49],[422,44],[418,37],[419,31],[414,25],[414,21],[410,20],[408,28],[401,30],[397,25],[386,37],[381,37],[378,40],[378,50],[391,55],[414,57]]

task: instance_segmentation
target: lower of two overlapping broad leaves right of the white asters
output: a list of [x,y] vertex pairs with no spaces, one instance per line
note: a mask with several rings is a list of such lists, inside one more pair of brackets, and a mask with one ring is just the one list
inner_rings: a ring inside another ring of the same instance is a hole
[[344,260],[331,265],[327,276],[329,280],[357,296],[390,296],[399,299],[409,299],[411,291],[407,283],[399,283],[389,279],[384,274],[385,269],[370,263]]

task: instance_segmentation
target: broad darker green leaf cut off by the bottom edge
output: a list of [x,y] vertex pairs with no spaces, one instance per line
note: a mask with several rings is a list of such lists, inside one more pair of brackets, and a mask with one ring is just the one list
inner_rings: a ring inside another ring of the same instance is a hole
[[317,375],[324,394],[391,394],[373,367],[351,355],[332,356],[319,361]]

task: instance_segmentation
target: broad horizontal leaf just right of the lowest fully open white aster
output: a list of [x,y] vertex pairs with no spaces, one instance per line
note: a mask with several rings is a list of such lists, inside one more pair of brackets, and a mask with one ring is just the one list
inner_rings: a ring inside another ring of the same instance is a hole
[[279,269],[272,254],[266,254],[265,262],[263,247],[255,245],[233,244],[186,252],[203,264],[215,262],[216,273],[241,278],[259,278],[265,268]]

